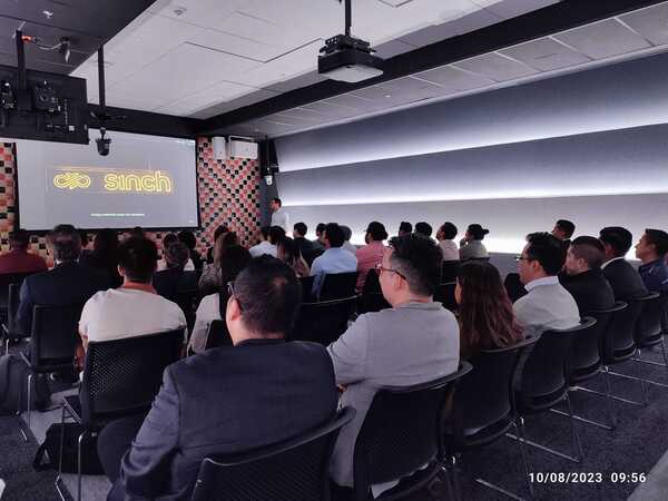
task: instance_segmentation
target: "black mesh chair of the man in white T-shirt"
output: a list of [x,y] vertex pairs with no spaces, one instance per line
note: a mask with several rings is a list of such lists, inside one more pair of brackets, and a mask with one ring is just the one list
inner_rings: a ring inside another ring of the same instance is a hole
[[[160,390],[165,367],[181,353],[184,328],[145,336],[89,342],[84,364],[79,395],[62,399],[61,423],[66,412],[84,428],[79,435],[77,501],[81,500],[81,443],[95,435],[111,420],[148,411]],[[62,458],[65,434],[60,436]],[[56,489],[60,488],[62,461],[59,464]]]

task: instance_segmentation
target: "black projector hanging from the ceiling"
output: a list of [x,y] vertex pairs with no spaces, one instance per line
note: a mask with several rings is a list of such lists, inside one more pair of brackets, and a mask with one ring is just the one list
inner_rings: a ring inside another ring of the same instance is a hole
[[383,75],[383,59],[373,56],[367,41],[350,35],[325,40],[317,58],[317,72],[332,80],[356,82]]

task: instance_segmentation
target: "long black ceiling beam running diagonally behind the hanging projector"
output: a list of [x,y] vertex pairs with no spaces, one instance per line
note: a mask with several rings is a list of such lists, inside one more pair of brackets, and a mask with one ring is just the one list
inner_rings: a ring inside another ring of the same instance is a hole
[[[655,3],[661,3],[662,1],[665,0],[563,0],[560,3],[554,3],[498,24],[449,38],[386,59],[383,76],[371,80],[358,84],[326,80],[301,89],[291,90],[234,111],[217,115],[203,120],[199,134],[218,134],[222,129],[235,124],[449,65]],[[363,37],[363,33],[360,35]]]

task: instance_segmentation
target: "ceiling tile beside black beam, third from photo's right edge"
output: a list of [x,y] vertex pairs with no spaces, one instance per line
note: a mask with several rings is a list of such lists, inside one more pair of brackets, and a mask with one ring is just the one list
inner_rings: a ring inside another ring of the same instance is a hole
[[499,52],[522,61],[541,71],[550,71],[569,66],[591,61],[583,53],[577,52],[551,38],[541,38],[519,46],[499,50]]

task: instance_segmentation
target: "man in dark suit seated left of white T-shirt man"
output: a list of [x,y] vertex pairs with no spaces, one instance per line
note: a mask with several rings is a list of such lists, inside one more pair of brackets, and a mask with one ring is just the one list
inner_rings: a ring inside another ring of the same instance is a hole
[[72,225],[56,226],[47,236],[47,246],[56,266],[26,277],[21,285],[17,322],[26,334],[31,332],[35,305],[82,305],[96,292],[111,285],[107,275],[78,263],[81,236]]

